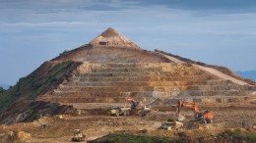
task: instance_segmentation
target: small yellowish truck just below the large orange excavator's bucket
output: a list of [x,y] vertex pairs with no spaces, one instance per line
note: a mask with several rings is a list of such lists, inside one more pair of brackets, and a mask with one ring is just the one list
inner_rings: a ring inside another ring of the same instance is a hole
[[175,119],[168,119],[167,122],[161,124],[161,129],[164,130],[178,130],[182,129],[183,123],[180,121],[176,121]]

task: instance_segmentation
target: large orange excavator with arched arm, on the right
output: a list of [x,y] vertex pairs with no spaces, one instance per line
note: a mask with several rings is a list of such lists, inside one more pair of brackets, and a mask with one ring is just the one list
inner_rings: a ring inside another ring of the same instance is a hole
[[198,105],[194,103],[184,102],[183,100],[179,100],[177,105],[177,116],[181,117],[180,119],[184,119],[180,115],[181,109],[183,107],[194,109],[196,121],[199,121],[201,123],[213,123],[213,119],[214,119],[213,113],[209,112],[208,110],[205,110],[204,112],[200,112]]

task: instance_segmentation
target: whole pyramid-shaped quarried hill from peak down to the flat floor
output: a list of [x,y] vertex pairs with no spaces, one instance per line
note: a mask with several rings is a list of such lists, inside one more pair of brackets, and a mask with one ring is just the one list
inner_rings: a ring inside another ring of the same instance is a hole
[[[37,111],[36,104],[32,104],[36,101],[75,107],[83,104],[87,108],[95,108],[89,104],[122,104],[126,96],[146,104],[159,98],[197,97],[203,102],[205,97],[213,96],[218,99],[208,100],[223,102],[225,96],[242,96],[256,90],[255,82],[248,83],[239,78],[237,80],[244,84],[237,84],[240,82],[227,80],[228,72],[220,75],[211,72],[215,67],[208,66],[207,71],[205,67],[207,65],[198,66],[162,52],[142,50],[113,28],[107,28],[90,44],[45,62],[4,92],[0,101],[0,120],[5,120],[1,123],[12,123],[6,120],[6,117],[12,117],[19,122],[22,120],[18,116],[26,113],[28,118],[24,120],[29,121],[32,116],[28,113]],[[218,71],[218,68],[214,70]],[[233,78],[236,76],[230,79]],[[57,109],[56,105],[49,106]],[[40,109],[45,111],[43,114],[54,114],[43,108]]]

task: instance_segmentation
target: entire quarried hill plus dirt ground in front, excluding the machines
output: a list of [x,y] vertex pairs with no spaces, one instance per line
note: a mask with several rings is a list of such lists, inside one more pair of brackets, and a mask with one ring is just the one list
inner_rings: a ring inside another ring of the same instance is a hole
[[[0,142],[70,142],[77,128],[92,142],[253,142],[254,85],[224,67],[142,50],[108,28],[0,94]],[[145,117],[140,110],[109,116],[110,107],[123,106],[127,96],[153,111]],[[216,124],[190,121],[193,111],[183,109],[184,130],[159,130],[177,118],[171,107],[178,99],[210,110]]]

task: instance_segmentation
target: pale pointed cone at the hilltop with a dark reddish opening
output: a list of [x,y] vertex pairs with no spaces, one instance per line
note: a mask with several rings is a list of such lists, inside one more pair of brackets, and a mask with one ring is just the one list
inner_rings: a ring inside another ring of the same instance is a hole
[[118,47],[132,48],[141,50],[141,48],[130,41],[126,36],[109,27],[90,42],[94,47]]

